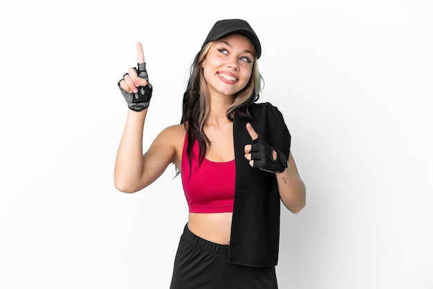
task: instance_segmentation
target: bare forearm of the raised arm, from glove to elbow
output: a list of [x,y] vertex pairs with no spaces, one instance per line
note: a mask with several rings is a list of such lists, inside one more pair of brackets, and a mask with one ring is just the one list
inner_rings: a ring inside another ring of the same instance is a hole
[[121,192],[136,192],[142,177],[142,138],[147,109],[128,110],[127,122],[118,148],[114,168],[114,183]]

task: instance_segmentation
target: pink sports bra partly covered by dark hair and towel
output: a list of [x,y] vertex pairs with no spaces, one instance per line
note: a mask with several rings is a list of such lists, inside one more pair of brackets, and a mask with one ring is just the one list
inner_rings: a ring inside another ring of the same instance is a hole
[[199,142],[192,147],[192,172],[187,157],[185,136],[182,152],[182,185],[191,213],[233,212],[236,167],[234,160],[212,162],[204,159],[199,165]]

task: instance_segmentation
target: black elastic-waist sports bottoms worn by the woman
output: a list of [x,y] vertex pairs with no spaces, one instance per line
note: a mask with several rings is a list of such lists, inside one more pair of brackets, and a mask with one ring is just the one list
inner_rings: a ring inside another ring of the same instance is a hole
[[194,235],[185,225],[179,242],[171,289],[276,289],[275,266],[258,268],[228,262],[229,245]]

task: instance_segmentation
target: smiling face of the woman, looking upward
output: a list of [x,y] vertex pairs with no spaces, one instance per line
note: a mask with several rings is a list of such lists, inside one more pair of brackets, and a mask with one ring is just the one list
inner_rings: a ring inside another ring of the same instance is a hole
[[211,95],[233,96],[248,84],[255,61],[253,47],[250,39],[239,34],[212,43],[202,63]]

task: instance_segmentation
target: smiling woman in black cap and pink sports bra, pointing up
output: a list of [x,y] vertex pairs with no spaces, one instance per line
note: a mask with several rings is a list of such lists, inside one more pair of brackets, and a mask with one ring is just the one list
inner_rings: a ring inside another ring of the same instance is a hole
[[192,64],[181,124],[164,129],[144,154],[152,88],[140,43],[137,51],[138,69],[118,83],[129,110],[115,185],[133,193],[170,163],[180,171],[190,212],[171,288],[277,288],[279,204],[300,212],[305,186],[282,114],[257,103],[257,35],[241,19],[214,24]]

